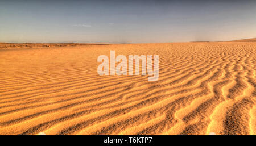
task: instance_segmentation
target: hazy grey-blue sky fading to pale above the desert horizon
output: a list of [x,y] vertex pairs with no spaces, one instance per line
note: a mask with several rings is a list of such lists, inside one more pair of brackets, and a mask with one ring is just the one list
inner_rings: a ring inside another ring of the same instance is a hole
[[0,1],[0,42],[154,43],[256,37],[256,1]]

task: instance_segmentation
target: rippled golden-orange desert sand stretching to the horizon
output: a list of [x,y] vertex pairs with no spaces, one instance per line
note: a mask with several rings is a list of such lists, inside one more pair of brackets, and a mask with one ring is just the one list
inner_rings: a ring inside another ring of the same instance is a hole
[[[159,55],[159,79],[100,55]],[[117,63],[116,63],[117,65]],[[256,134],[256,42],[1,44],[0,134]]]

